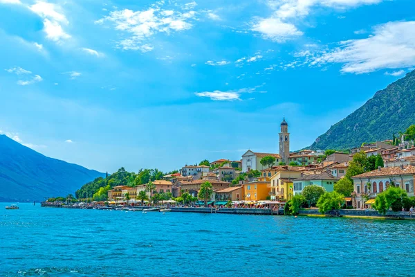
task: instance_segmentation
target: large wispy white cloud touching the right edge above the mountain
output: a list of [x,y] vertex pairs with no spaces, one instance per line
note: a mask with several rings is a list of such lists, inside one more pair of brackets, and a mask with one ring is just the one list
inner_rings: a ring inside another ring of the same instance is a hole
[[380,24],[365,39],[350,39],[324,51],[311,66],[343,64],[344,73],[369,73],[379,69],[403,69],[415,65],[415,21]]

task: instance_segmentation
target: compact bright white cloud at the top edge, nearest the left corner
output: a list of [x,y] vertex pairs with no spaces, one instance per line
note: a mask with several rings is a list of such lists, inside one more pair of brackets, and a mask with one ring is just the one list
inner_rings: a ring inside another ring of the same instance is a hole
[[71,35],[68,35],[62,28],[62,24],[67,25],[69,22],[62,13],[62,8],[60,6],[55,3],[36,1],[35,4],[28,8],[44,19],[43,23],[46,38],[54,42],[60,42],[62,39],[71,37]]

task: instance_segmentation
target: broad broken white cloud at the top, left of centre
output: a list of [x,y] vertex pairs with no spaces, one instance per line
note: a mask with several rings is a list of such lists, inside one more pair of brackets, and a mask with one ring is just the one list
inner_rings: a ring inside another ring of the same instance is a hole
[[192,21],[196,19],[196,12],[191,10],[196,2],[190,2],[179,10],[165,10],[160,8],[164,1],[157,2],[147,10],[115,10],[108,16],[95,21],[95,24],[104,24],[109,21],[118,31],[127,33],[129,37],[118,42],[118,48],[148,52],[153,46],[147,40],[158,33],[169,35],[192,28]]

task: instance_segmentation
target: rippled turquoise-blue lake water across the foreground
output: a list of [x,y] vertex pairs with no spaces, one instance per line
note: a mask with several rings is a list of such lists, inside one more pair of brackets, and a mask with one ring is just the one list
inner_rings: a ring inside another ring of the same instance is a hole
[[415,222],[0,204],[0,276],[415,276]]

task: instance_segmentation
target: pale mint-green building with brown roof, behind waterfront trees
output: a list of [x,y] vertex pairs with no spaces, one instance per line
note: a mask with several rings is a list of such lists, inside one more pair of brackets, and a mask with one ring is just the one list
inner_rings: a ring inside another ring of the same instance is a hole
[[334,177],[328,172],[322,172],[320,174],[303,175],[293,181],[294,195],[299,195],[306,186],[317,185],[323,187],[326,192],[331,193],[334,190],[334,184],[339,181],[340,178]]

